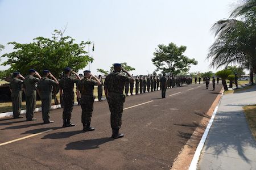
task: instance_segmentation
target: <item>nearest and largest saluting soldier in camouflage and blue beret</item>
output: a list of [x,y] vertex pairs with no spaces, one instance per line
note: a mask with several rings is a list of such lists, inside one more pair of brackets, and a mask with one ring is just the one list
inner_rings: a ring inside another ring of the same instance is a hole
[[129,82],[129,77],[122,75],[121,70],[129,77],[131,74],[122,68],[121,64],[114,64],[114,72],[106,76],[105,79],[105,94],[108,99],[109,109],[111,112],[111,128],[112,138],[117,139],[123,137],[119,134],[119,129],[122,125],[123,103],[125,102],[125,95],[123,95],[123,88],[126,82]]

